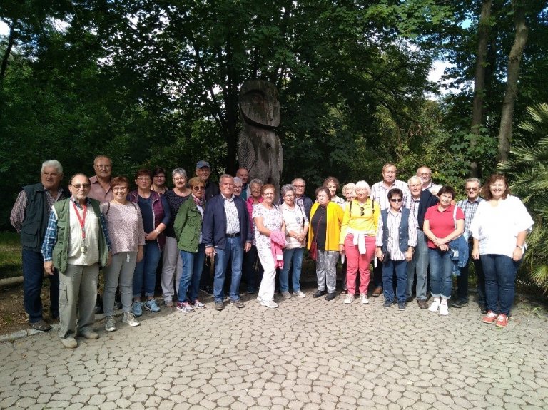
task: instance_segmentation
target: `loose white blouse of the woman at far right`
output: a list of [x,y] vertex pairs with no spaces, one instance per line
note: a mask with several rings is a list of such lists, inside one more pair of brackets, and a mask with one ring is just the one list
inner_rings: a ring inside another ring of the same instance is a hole
[[505,200],[499,200],[496,207],[492,207],[488,200],[482,201],[477,206],[470,232],[474,239],[480,241],[480,255],[512,257],[517,234],[524,230],[531,231],[533,224],[533,219],[522,201],[508,195]]

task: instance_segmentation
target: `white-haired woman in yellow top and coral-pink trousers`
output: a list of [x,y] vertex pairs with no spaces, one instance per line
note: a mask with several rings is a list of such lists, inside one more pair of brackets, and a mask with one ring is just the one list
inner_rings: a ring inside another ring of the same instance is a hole
[[346,255],[346,285],[348,294],[346,304],[354,300],[356,276],[360,271],[360,300],[369,303],[367,287],[370,279],[371,260],[375,256],[375,236],[379,221],[380,206],[370,197],[371,188],[365,181],[355,186],[356,198],[345,206],[340,230],[339,250]]

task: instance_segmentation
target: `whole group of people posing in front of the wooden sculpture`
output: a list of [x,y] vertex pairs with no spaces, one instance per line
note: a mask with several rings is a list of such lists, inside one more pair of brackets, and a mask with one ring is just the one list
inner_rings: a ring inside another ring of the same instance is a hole
[[342,187],[346,200],[338,197],[334,177],[315,190],[315,200],[305,195],[302,178],[283,185],[278,198],[277,187],[250,180],[243,168],[235,177],[220,175],[215,185],[205,160],[198,161],[193,178],[174,169],[171,189],[163,168],[138,170],[136,189],[130,190],[128,178],[112,178],[110,158],[98,156],[93,167],[96,175],[73,175],[66,192],[61,164],[44,162],[41,182],[24,187],[11,212],[11,223],[21,232],[29,324],[51,328],[40,297],[45,271],[51,317],[59,317],[59,336],[69,348],[78,346],[77,335],[98,338],[91,326],[101,269],[105,328],[111,332],[117,289],[123,323],[138,326],[143,309],[160,310],[154,297],[160,260],[166,307],[184,313],[203,309],[199,289],[213,285],[215,309],[225,308],[225,293],[233,307],[242,308],[243,279],[261,305],[276,308],[277,287],[285,299],[306,296],[300,289],[305,248],[315,260],[315,298],[337,297],[340,260],[345,304],[358,295],[362,304],[369,303],[371,285],[372,297],[384,295],[384,307],[397,304],[403,310],[415,288],[418,307],[442,316],[449,313],[453,275],[457,297],[451,306],[468,303],[472,262],[483,322],[505,327],[533,225],[499,174],[483,187],[480,180],[467,179],[467,198],[455,203],[455,190],[433,184],[430,168],[419,168],[405,183],[397,180],[392,163],[371,187],[363,180]]

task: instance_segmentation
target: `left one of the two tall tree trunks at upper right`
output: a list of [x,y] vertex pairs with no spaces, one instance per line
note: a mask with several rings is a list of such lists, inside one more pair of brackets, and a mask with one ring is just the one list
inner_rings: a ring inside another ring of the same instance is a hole
[[[487,43],[489,43],[491,28],[491,6],[492,0],[483,0],[480,23],[477,26],[476,71],[474,78],[474,102],[472,103],[472,123],[470,125],[470,130],[472,131],[470,148],[474,148],[477,143],[477,138],[480,137],[483,119],[485,68],[487,61]],[[480,166],[477,160],[478,158],[472,158],[472,163],[470,163],[470,176],[475,178],[480,176]]]

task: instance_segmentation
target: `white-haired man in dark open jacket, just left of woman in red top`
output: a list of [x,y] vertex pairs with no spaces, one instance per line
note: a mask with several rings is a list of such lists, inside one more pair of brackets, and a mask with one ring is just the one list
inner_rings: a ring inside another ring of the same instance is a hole
[[432,195],[429,190],[422,190],[422,180],[417,176],[412,176],[407,180],[410,195],[407,198],[407,207],[411,215],[417,220],[417,246],[410,262],[407,262],[407,302],[410,302],[413,290],[413,280],[415,280],[417,304],[420,309],[427,309],[427,272],[428,272],[428,245],[425,233],[422,232],[422,225],[425,223],[426,210],[437,204],[437,197]]

